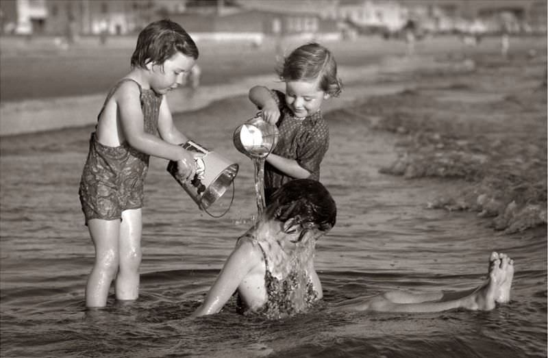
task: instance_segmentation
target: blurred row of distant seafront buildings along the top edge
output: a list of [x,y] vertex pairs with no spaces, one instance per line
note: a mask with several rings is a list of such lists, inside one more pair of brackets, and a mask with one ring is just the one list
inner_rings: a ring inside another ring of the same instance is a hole
[[546,0],[0,0],[2,34],[134,34],[171,17],[188,31],[330,34],[398,31],[411,19],[435,32],[546,31]]

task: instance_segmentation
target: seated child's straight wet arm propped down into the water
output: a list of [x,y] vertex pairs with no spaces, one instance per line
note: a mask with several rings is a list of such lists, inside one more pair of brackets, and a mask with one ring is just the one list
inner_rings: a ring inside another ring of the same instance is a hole
[[242,240],[228,257],[206,299],[192,316],[205,316],[221,311],[247,274],[261,264],[261,260],[262,255],[258,253],[258,248],[249,240]]

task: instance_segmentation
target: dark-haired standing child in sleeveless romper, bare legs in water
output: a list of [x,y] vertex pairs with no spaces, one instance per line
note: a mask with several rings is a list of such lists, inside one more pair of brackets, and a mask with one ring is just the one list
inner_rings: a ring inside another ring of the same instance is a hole
[[177,23],[149,24],[138,36],[131,71],[108,92],[99,112],[79,186],[95,245],[86,307],[106,305],[113,279],[118,300],[138,298],[149,156],[176,161],[183,178],[196,174],[196,154],[179,145],[188,138],[173,124],[166,93],[183,83],[198,54],[195,42]]

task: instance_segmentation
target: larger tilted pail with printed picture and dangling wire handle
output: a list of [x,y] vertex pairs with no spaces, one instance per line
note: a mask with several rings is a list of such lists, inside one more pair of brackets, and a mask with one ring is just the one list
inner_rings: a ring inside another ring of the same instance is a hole
[[234,199],[234,178],[238,174],[238,164],[230,162],[214,151],[208,151],[208,149],[191,140],[183,144],[183,148],[187,151],[203,153],[203,157],[197,159],[197,165],[204,168],[203,175],[199,176],[197,174],[190,182],[184,181],[177,174],[177,162],[174,161],[169,162],[167,171],[201,210],[216,218],[223,216],[228,212],[230,206],[232,206],[232,200],[229,207],[220,216],[212,215],[208,212],[208,208],[225,194],[231,184],[232,199]]

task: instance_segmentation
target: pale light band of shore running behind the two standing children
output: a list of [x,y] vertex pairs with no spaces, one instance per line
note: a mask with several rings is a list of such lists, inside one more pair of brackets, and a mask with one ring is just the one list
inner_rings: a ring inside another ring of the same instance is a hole
[[[414,59],[386,57],[377,65],[341,66],[340,77],[345,79],[345,94],[342,101],[334,103],[343,106],[362,97],[395,93],[406,86],[412,86],[412,84],[376,84],[380,78],[390,73],[412,73],[425,69],[454,71],[456,66],[462,68],[462,71],[467,69],[466,62],[447,64],[436,62],[433,57],[425,56]],[[197,90],[179,88],[169,93],[168,99],[172,112],[177,114],[199,110],[227,97],[246,95],[249,88],[256,84],[282,89],[282,85],[273,75],[257,75],[243,77],[227,84],[203,85]],[[104,94],[101,93],[3,103],[0,107],[0,136],[91,125],[97,120],[97,113],[104,100]]]

